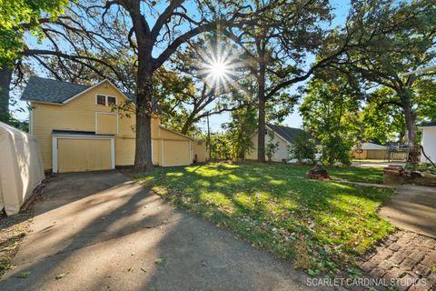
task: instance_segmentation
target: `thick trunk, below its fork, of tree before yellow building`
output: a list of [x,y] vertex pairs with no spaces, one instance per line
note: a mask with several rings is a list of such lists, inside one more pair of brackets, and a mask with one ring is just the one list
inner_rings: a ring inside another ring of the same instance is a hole
[[152,162],[153,69],[151,65],[145,63],[138,71],[134,169],[138,172],[150,172],[154,168]]

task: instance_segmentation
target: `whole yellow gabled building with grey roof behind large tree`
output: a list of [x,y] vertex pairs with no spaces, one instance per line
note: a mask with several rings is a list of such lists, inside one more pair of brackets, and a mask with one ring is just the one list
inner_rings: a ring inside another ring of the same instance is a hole
[[[135,116],[121,114],[114,105],[135,100],[109,80],[85,86],[32,76],[21,99],[30,103],[30,134],[40,144],[45,170],[134,165]],[[205,143],[160,125],[160,115],[152,118],[151,130],[154,165],[205,161]]]

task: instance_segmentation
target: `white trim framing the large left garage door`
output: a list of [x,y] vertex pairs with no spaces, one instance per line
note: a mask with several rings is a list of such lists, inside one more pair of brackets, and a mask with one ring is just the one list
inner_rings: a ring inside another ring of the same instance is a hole
[[111,141],[111,169],[115,168],[115,137],[114,135],[65,135],[53,134],[52,135],[52,171],[58,173],[59,160],[58,160],[58,139],[104,139]]

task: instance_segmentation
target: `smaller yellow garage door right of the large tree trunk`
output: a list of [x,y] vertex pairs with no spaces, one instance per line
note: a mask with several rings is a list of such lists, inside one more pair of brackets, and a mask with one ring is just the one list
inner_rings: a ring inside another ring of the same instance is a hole
[[189,141],[163,140],[163,166],[189,165]]

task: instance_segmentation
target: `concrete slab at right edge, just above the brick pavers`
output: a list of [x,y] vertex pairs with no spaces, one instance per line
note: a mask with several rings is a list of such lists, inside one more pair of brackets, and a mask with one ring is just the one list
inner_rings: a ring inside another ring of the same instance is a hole
[[404,185],[381,207],[392,225],[436,238],[436,188]]

